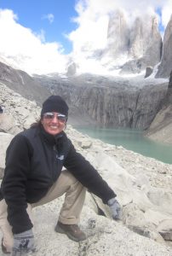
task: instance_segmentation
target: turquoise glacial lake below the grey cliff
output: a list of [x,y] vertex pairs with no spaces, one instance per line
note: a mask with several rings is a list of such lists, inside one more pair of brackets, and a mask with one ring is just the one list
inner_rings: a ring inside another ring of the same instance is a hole
[[143,136],[142,131],[75,126],[77,131],[98,138],[104,143],[132,150],[136,153],[172,164],[172,145],[156,143]]

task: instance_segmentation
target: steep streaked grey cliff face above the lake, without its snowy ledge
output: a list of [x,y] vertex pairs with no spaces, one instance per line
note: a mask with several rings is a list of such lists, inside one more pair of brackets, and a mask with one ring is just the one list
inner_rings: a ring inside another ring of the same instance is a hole
[[141,90],[94,88],[84,91],[80,104],[100,125],[146,129],[158,113],[165,93],[166,89],[157,85]]

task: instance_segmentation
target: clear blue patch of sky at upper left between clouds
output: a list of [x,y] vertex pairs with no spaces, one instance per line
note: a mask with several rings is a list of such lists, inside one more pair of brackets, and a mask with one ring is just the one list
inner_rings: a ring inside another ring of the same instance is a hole
[[[66,34],[77,28],[72,18],[77,16],[75,0],[0,0],[0,9],[12,9],[22,26],[35,33],[45,32],[49,42],[60,42],[65,53],[72,51],[72,43]],[[52,20],[51,16],[53,15]]]

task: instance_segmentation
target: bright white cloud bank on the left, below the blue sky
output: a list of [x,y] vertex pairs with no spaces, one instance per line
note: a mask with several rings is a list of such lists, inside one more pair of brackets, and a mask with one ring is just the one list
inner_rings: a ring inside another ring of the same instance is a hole
[[62,72],[66,56],[58,43],[44,43],[44,32],[39,35],[20,26],[12,10],[0,9],[0,55],[9,64],[28,73]]

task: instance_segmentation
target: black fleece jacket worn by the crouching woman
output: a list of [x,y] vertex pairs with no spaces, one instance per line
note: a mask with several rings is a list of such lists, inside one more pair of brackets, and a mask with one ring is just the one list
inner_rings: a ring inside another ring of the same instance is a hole
[[63,166],[104,203],[116,196],[89,161],[76,152],[64,131],[54,137],[42,127],[30,128],[9,144],[0,190],[0,198],[8,205],[8,220],[14,234],[32,228],[27,202],[43,198]]

